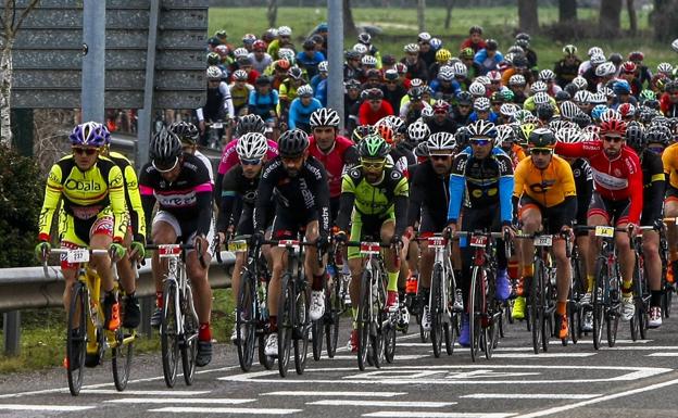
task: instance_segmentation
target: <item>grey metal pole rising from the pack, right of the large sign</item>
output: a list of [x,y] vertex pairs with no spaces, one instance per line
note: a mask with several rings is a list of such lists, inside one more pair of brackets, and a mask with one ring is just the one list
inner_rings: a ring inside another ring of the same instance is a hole
[[327,0],[329,75],[327,104],[339,112],[340,130],[343,129],[343,7],[339,0]]

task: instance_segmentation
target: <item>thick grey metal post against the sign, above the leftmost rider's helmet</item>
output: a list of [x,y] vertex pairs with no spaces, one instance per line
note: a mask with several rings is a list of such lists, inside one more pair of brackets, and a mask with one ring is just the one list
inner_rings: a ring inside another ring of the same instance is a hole
[[105,91],[105,1],[85,0],[83,2],[83,42],[86,53],[83,56],[83,90],[80,102],[83,122],[103,123]]

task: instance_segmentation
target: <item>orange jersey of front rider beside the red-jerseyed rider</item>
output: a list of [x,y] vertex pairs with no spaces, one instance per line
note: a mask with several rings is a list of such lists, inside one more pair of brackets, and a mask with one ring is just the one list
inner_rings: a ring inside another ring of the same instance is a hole
[[513,178],[513,195],[520,198],[526,193],[544,207],[555,206],[563,203],[565,198],[577,195],[572,168],[557,155],[551,157],[551,163],[544,169],[537,168],[531,157],[524,159],[518,163]]

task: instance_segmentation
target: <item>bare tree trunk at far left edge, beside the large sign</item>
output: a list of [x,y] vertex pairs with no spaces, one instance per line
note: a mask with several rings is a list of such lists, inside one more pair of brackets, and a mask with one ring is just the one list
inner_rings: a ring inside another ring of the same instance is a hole
[[29,0],[25,8],[16,7],[16,0],[4,0],[0,17],[0,143],[12,145],[12,48],[16,33],[40,0]]

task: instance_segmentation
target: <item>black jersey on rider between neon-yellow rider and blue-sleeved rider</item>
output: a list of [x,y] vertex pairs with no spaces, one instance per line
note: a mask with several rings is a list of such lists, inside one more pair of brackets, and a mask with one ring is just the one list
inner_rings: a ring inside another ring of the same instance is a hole
[[[422,220],[422,230],[425,232],[440,232],[448,220],[448,205],[450,204],[450,175],[439,175],[434,170],[430,160],[417,165],[410,188],[410,205],[407,207],[407,226],[414,227]],[[424,225],[424,224],[430,224]],[[439,228],[437,228],[439,227]],[[436,230],[428,230],[435,228]]]

